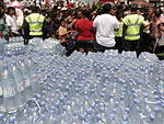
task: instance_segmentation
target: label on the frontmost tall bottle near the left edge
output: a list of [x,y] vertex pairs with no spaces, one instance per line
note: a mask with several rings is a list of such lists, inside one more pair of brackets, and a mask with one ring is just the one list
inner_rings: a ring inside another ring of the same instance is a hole
[[3,87],[3,97],[11,98],[16,93],[15,84]]

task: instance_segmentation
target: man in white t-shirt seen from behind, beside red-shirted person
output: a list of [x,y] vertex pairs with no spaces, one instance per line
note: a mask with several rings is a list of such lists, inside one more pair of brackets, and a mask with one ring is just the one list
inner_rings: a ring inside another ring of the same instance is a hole
[[114,31],[118,31],[119,24],[115,16],[110,15],[112,5],[106,3],[103,5],[104,14],[97,15],[93,22],[96,32],[95,52],[105,52],[115,46]]

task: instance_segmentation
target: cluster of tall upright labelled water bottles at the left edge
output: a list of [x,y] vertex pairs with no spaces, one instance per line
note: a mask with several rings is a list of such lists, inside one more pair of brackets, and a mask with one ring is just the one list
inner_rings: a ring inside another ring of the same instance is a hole
[[[39,89],[36,74],[37,63],[27,56],[0,56],[0,111],[15,113],[34,97]],[[35,90],[33,90],[35,89]]]

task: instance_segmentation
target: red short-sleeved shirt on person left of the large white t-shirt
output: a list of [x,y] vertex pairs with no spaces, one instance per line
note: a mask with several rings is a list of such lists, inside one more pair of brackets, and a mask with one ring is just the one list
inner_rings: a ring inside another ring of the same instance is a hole
[[75,29],[79,30],[78,41],[94,40],[92,21],[87,19],[78,20]]

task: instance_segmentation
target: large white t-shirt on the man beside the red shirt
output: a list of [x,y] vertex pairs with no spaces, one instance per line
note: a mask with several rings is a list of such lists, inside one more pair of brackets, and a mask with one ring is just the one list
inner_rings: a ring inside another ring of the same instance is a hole
[[93,26],[96,27],[96,41],[106,47],[115,46],[115,29],[119,29],[118,21],[110,14],[102,14],[95,18]]

